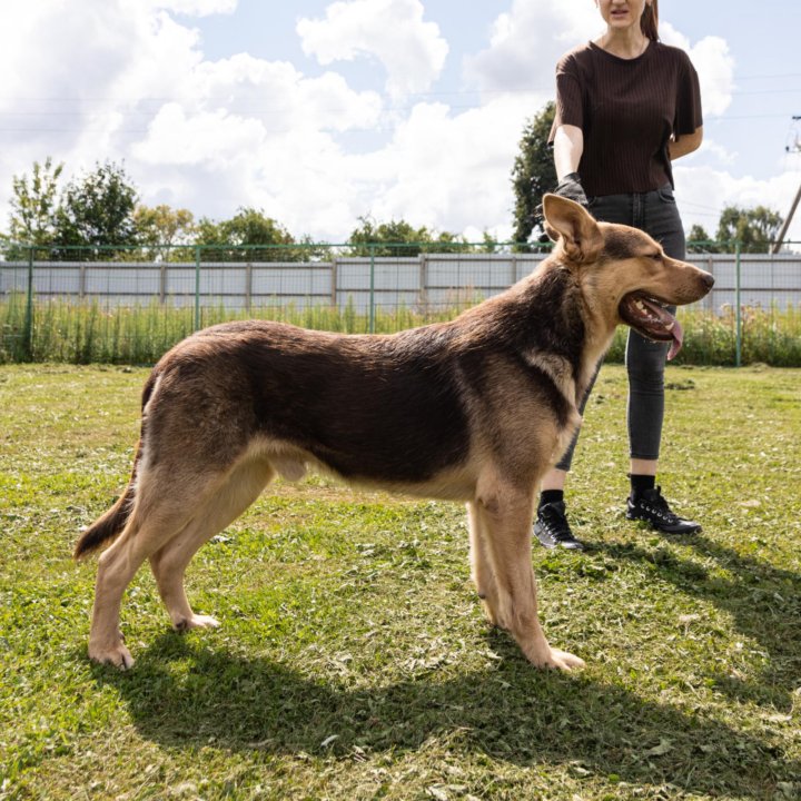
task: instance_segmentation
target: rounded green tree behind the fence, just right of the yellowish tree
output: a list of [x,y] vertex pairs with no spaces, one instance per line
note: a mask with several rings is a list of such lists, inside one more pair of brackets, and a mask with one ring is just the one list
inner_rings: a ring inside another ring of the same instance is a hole
[[[304,261],[312,257],[286,228],[254,208],[240,208],[221,222],[201,218],[195,241],[204,246],[207,258],[218,261]],[[263,247],[254,247],[258,245]]]

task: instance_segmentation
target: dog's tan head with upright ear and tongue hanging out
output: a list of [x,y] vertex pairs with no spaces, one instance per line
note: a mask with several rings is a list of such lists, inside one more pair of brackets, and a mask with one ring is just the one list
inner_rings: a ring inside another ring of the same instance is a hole
[[561,265],[573,269],[591,310],[612,325],[625,323],[643,336],[672,343],[669,358],[682,344],[682,328],[665,306],[700,300],[714,278],[705,270],[665,255],[644,231],[597,222],[576,202],[546,195],[545,230],[557,243]]

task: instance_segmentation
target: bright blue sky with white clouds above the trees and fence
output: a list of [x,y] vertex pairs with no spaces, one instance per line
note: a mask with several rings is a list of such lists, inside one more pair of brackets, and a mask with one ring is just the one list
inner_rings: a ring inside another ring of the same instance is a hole
[[[593,0],[2,0],[0,29],[0,230],[13,177],[51,157],[67,179],[121,164],[148,206],[343,243],[362,218],[507,239],[523,129],[604,24]],[[674,165],[686,230],[788,215],[799,30],[799,0],[660,3],[704,107]]]

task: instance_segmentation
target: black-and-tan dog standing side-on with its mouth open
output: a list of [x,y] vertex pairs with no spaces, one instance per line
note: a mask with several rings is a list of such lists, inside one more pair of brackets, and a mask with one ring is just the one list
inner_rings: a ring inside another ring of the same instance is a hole
[[274,477],[313,468],[465,502],[471,575],[490,622],[536,666],[583,666],[548,644],[537,617],[540,479],[581,424],[577,404],[615,327],[675,350],[682,330],[665,306],[699,300],[714,280],[572,200],[546,195],[543,211],[552,254],[448,323],[340,335],[238,322],[169,350],[142,392],[130,482],[75,547],[80,558],[115,541],[98,563],[90,659],[134,664],[119,613],[145,560],[176,630],[217,626],[189,605],[189,561]]

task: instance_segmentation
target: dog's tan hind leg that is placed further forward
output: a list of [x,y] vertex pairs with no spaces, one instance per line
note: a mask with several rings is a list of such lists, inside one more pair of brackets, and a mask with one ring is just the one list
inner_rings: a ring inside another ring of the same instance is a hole
[[212,629],[219,623],[192,612],[184,589],[184,574],[200,546],[233,523],[259,496],[275,473],[266,461],[240,463],[206,500],[181,533],[150,555],[159,594],[177,631]]

